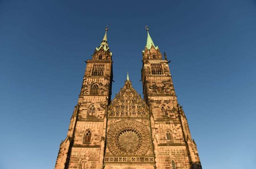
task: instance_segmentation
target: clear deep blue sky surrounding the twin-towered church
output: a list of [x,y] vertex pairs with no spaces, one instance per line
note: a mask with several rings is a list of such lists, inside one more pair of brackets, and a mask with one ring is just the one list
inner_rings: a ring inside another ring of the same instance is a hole
[[51,169],[106,25],[112,98],[142,94],[148,25],[171,60],[204,169],[253,169],[256,1],[0,1],[1,169]]

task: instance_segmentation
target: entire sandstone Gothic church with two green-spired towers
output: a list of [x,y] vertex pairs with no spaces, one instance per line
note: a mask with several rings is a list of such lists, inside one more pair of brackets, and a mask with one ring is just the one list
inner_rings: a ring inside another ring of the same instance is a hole
[[178,104],[166,55],[148,29],[142,51],[144,99],[127,74],[111,100],[112,53],[107,28],[87,60],[78,103],[60,144],[55,169],[201,169],[182,106]]

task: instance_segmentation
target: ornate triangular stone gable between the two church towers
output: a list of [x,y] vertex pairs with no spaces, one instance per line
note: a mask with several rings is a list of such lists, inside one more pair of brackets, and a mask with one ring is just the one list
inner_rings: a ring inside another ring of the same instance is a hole
[[108,117],[148,117],[148,106],[132,87],[130,80],[108,106]]

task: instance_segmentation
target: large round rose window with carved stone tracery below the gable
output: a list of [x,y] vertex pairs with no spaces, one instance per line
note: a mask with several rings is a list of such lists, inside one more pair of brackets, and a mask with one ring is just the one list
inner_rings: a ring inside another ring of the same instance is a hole
[[118,121],[108,131],[107,146],[113,155],[144,155],[150,147],[148,129],[139,121]]

